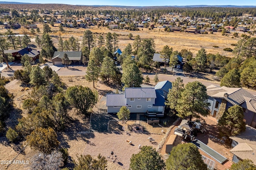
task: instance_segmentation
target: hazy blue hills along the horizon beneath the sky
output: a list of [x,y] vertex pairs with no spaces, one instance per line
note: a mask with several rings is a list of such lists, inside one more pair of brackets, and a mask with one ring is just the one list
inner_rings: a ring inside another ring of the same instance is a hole
[[[0,1],[0,4],[35,4],[27,2],[6,2]],[[200,7],[224,7],[224,8],[256,8],[256,6],[235,6],[235,5],[186,5],[186,6],[120,6],[120,5],[77,5],[77,6],[92,6],[92,7],[118,7],[118,8],[159,8],[159,7],[174,7],[174,8],[200,8]]]

